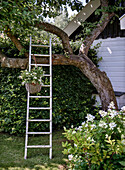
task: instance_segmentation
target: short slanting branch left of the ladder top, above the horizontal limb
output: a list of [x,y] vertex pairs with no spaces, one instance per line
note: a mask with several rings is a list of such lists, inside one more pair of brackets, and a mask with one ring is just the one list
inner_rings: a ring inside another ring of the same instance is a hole
[[[22,49],[24,49],[24,47],[21,45],[21,43],[19,42],[19,40],[11,33],[10,29],[7,29],[4,31],[6,33],[6,35],[11,39],[11,41],[14,43],[14,45],[16,46],[16,48],[21,51]],[[29,54],[27,52],[24,53],[25,57],[29,57]]]

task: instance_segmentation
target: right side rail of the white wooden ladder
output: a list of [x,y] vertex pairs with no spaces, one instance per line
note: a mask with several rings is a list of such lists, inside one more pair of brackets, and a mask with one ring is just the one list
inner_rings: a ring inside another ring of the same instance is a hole
[[52,46],[51,46],[51,38],[49,41],[50,49],[50,153],[49,157],[52,159]]

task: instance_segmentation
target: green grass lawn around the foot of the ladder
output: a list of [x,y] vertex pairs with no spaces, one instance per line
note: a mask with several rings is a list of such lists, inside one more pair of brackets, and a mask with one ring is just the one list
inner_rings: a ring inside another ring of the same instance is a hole
[[[0,133],[0,170],[57,170],[65,168],[62,154],[63,131],[53,132],[53,159],[49,159],[49,149],[28,149],[28,158],[24,159],[25,136],[17,137]],[[48,144],[48,136],[32,136],[29,144]]]

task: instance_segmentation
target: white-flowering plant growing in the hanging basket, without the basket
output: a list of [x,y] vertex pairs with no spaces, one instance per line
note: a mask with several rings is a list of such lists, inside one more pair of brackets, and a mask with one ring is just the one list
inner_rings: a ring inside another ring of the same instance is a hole
[[30,72],[27,70],[21,71],[19,76],[22,79],[22,85],[26,83],[32,84],[42,84],[42,77],[44,76],[44,71],[42,67],[34,67]]

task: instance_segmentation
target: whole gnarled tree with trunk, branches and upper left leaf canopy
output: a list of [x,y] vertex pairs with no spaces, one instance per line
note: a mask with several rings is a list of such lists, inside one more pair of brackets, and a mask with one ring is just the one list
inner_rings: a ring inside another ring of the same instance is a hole
[[[30,34],[35,34],[36,30],[45,30],[60,37],[64,54],[53,54],[53,65],[74,65],[78,67],[84,75],[92,82],[101,98],[102,108],[106,110],[111,101],[117,107],[115,94],[109,78],[105,72],[100,71],[88,58],[88,50],[93,41],[104,30],[106,25],[115,16],[115,10],[120,3],[118,0],[113,6],[109,5],[109,0],[100,0],[101,15],[96,27],[91,34],[86,36],[79,49],[79,54],[74,55],[70,45],[68,35],[59,27],[52,23],[45,22],[46,18],[54,18],[62,13],[67,5],[72,10],[80,11],[82,3],[79,0],[6,0],[0,2],[0,31],[15,44],[19,51],[24,51],[25,58],[9,58],[0,51],[0,62],[2,67],[22,68],[27,65],[28,51],[22,45]],[[115,1],[114,1],[115,2]],[[23,38],[22,38],[23,37]],[[66,57],[66,56],[69,57]],[[39,62],[47,62],[42,60]]]

